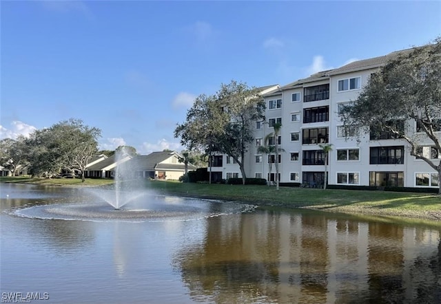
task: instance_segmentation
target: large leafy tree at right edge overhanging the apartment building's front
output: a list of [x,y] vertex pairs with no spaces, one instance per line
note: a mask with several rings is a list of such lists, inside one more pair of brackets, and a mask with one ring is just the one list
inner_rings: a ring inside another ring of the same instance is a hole
[[360,96],[342,109],[342,120],[347,127],[373,127],[406,140],[410,154],[437,171],[439,181],[441,160],[422,147],[441,155],[441,39],[399,55],[371,75]]

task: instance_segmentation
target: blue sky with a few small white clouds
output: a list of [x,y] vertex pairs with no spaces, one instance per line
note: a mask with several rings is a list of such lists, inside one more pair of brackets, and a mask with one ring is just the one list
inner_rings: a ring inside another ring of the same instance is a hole
[[69,118],[101,149],[181,151],[222,83],[286,85],[441,35],[441,1],[1,1],[0,139]]

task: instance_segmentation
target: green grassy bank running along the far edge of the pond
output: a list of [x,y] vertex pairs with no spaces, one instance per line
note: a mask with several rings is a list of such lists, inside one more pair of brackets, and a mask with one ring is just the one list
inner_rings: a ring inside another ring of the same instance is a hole
[[[30,177],[0,177],[0,182],[41,184],[45,186],[103,186],[112,180],[40,179]],[[353,191],[271,186],[225,184],[183,184],[168,181],[145,181],[145,187],[156,193],[223,199],[259,206],[305,208],[356,215],[381,215],[439,221],[441,197],[431,193],[396,193],[386,191]]]

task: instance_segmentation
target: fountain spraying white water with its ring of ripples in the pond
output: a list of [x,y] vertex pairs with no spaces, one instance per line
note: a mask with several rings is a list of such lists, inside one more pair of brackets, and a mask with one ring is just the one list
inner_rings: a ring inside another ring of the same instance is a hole
[[[40,219],[163,221],[200,219],[252,210],[254,206],[217,200],[158,195],[134,177],[136,160],[123,162],[117,155],[114,184],[75,189],[69,202],[32,206],[14,211],[16,215]],[[74,201],[74,202],[72,202]]]

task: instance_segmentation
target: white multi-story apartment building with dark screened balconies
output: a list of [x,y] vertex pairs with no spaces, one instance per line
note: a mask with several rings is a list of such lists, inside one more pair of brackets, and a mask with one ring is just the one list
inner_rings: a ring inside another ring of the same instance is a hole
[[[247,177],[274,181],[275,168],[272,166],[269,174],[269,162],[275,162],[275,156],[259,153],[258,147],[274,131],[274,123],[281,122],[279,138],[271,139],[278,140],[284,150],[278,158],[280,182],[321,185],[325,177],[325,153],[319,145],[332,144],[327,164],[328,184],[438,187],[438,173],[426,162],[411,156],[405,140],[388,133],[358,134],[358,130],[343,127],[339,116],[339,109],[358,97],[369,76],[401,52],[408,50],[355,61],[263,91],[267,107],[265,121],[256,122],[255,141],[249,146],[245,160]],[[411,129],[408,131],[419,131],[416,125]],[[423,151],[430,158],[441,158],[429,139]],[[227,155],[216,158],[212,171],[218,177],[241,177],[232,158]]]

